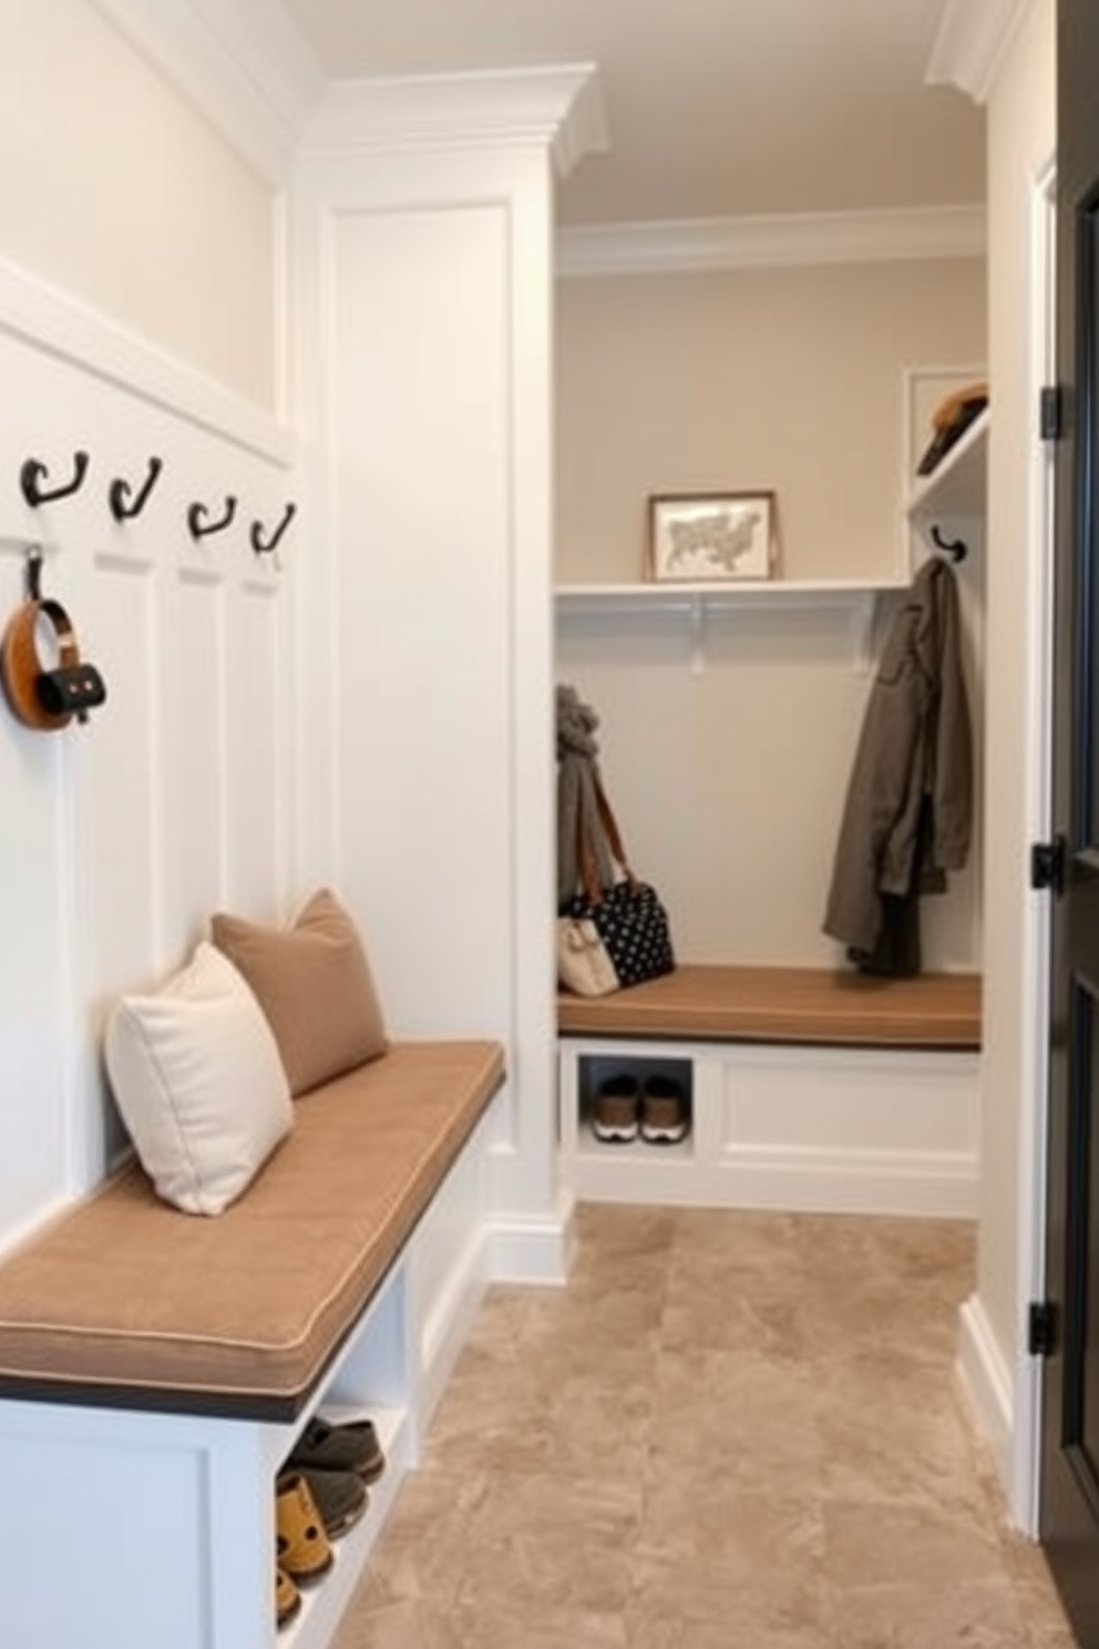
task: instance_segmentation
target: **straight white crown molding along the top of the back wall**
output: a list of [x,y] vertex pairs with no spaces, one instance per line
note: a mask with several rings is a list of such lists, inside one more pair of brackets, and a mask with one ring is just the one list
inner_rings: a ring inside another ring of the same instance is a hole
[[560,231],[557,274],[679,275],[796,264],[984,257],[985,247],[984,206],[624,223]]

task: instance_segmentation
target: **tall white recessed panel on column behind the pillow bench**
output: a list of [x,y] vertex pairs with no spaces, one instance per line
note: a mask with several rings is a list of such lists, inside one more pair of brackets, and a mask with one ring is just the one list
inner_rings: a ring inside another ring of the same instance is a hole
[[414,1036],[511,996],[507,208],[336,231],[341,881]]

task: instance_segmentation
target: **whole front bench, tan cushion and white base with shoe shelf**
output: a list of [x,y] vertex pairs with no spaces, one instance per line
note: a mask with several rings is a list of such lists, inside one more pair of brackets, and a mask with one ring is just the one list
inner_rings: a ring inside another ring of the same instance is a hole
[[278,1644],[321,1649],[481,1278],[494,1042],[395,1044],[295,1102],[216,1219],[133,1166],[0,1263],[10,1649],[272,1649],[274,1479],[313,1412],[387,1469]]

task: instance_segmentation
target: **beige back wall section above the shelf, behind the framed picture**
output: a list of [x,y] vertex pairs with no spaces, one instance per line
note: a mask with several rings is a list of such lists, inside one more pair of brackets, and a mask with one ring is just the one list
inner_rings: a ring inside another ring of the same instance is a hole
[[557,576],[634,579],[646,495],[774,488],[788,577],[890,574],[906,366],[985,358],[977,261],[559,282]]

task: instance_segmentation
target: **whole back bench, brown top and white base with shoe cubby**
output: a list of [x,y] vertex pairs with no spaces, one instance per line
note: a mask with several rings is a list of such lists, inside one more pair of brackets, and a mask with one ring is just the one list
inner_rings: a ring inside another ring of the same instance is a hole
[[[972,1215],[980,980],[680,965],[611,996],[557,999],[560,1154],[587,1199]],[[590,1126],[615,1073],[676,1077],[679,1144]]]

